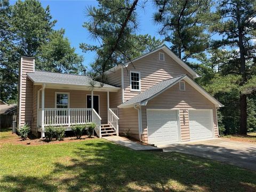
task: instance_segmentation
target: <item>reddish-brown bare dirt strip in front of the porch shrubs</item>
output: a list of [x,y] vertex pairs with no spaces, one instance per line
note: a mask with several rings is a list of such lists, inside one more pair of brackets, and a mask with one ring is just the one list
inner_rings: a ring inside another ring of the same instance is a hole
[[[0,134],[3,134],[2,132]],[[27,146],[34,146],[34,145],[49,145],[49,144],[57,144],[57,143],[66,143],[66,142],[78,142],[88,139],[95,139],[97,137],[89,138],[86,135],[82,136],[81,139],[76,139],[76,137],[66,137],[63,141],[52,140],[51,142],[46,142],[44,139],[35,138],[32,135],[27,138],[27,140],[22,141],[19,135],[12,133],[12,132],[5,132],[4,135],[0,139],[0,146],[4,143],[12,143],[13,145],[27,145]]]

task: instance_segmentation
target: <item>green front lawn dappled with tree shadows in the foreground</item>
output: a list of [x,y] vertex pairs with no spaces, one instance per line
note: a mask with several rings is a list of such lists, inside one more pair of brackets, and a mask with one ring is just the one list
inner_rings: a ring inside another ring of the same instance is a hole
[[256,191],[256,172],[104,139],[0,147],[1,191]]

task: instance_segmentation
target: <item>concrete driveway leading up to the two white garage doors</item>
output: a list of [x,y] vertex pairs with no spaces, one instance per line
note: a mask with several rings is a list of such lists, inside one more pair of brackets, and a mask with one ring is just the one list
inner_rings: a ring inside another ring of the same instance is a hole
[[212,139],[158,146],[165,152],[177,151],[256,171],[256,145],[228,139]]

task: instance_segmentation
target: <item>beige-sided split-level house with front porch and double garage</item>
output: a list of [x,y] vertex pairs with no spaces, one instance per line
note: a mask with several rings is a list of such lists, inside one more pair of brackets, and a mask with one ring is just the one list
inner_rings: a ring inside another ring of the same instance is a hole
[[128,134],[154,145],[218,137],[223,105],[199,86],[199,75],[163,45],[106,73],[89,76],[35,70],[22,57],[19,126],[44,137],[45,127],[95,122],[99,137]]

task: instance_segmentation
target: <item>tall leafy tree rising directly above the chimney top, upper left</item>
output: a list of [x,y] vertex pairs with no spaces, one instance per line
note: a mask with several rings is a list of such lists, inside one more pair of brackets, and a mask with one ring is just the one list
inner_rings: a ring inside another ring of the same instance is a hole
[[33,57],[57,22],[52,21],[50,7],[44,9],[36,0],[17,1],[13,6],[11,21],[19,53]]

